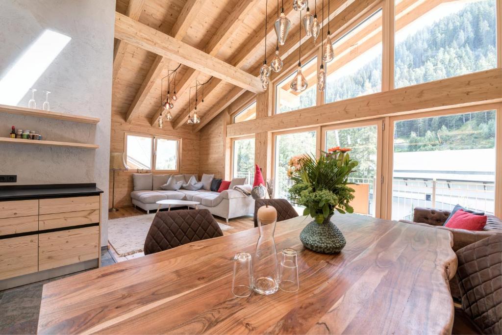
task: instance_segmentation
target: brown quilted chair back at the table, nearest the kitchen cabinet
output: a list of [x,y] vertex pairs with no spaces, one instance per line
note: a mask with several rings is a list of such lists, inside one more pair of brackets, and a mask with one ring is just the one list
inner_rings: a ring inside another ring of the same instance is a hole
[[207,209],[161,211],[145,239],[145,255],[220,236],[218,222]]

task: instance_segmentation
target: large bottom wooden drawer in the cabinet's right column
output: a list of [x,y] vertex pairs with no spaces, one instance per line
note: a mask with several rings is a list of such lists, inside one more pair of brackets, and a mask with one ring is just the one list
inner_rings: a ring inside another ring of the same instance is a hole
[[98,226],[39,235],[39,271],[88,261],[98,257]]

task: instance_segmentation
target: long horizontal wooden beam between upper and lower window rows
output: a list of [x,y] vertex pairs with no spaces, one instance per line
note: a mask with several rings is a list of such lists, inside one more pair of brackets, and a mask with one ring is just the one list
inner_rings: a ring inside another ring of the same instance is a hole
[[492,69],[232,124],[227,134],[236,137],[501,100],[502,69]]

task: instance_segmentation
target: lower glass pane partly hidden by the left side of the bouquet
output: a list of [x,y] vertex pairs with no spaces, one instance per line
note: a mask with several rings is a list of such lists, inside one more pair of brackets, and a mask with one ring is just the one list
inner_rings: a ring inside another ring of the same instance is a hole
[[297,155],[316,155],[317,132],[281,134],[275,137],[274,196],[287,198],[293,186],[287,175],[288,161]]

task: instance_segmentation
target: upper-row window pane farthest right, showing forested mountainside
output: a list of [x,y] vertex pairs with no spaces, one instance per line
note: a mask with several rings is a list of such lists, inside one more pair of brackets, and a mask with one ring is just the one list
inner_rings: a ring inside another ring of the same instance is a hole
[[496,0],[396,0],[395,13],[395,87],[496,67]]

